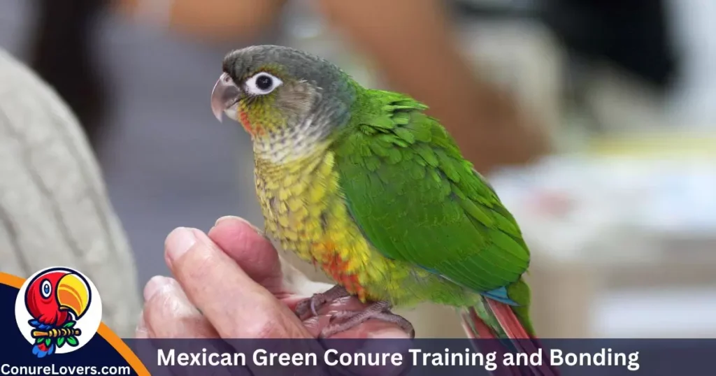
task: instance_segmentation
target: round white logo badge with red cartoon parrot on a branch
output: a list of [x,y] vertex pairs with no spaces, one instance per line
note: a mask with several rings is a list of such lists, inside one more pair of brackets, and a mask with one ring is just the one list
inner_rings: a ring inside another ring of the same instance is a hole
[[79,349],[102,321],[102,302],[92,281],[79,271],[52,267],[25,281],[15,317],[32,354],[42,358]]

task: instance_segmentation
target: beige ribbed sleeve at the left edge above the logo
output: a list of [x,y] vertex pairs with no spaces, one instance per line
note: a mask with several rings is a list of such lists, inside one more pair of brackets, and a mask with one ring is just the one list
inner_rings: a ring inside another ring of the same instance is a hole
[[0,49],[0,271],[86,274],[102,321],[134,334],[140,312],[130,246],[77,119],[34,72]]

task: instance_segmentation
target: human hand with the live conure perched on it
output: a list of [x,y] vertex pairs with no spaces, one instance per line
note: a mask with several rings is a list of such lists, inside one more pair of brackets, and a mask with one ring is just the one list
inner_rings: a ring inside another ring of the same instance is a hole
[[[147,282],[137,338],[316,338],[332,312],[365,307],[354,297],[339,299],[301,322],[292,312],[296,304],[331,286],[282,262],[271,242],[241,218],[219,218],[208,235],[176,228],[165,241],[165,260],[174,278]],[[408,334],[369,320],[332,338]]]

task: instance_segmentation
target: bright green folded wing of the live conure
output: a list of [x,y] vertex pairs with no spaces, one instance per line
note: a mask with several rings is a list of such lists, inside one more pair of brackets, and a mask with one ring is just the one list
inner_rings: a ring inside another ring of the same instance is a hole
[[[530,254],[517,223],[427,107],[379,90],[355,106],[334,151],[349,211],[373,246],[473,291],[521,281]],[[521,285],[508,294],[528,304]]]

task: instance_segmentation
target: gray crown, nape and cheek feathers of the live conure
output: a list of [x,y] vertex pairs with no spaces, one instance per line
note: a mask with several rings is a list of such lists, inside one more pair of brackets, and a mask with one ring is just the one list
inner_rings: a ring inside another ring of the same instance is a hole
[[[286,160],[332,134],[349,122],[357,85],[348,74],[326,59],[290,47],[263,45],[230,52],[223,72],[242,87],[258,72],[276,74],[284,85],[276,89],[272,105],[288,122],[271,137],[255,140],[255,151]],[[249,99],[250,100],[250,99]],[[291,153],[287,155],[286,153]]]

